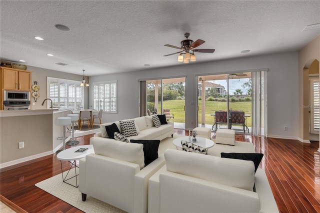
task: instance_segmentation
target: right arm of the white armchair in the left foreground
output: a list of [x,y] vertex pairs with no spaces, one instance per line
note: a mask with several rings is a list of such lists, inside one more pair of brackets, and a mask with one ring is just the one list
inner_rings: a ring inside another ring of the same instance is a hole
[[149,178],[165,164],[164,156],[160,156],[145,166],[134,176],[134,212],[148,210],[148,181]]

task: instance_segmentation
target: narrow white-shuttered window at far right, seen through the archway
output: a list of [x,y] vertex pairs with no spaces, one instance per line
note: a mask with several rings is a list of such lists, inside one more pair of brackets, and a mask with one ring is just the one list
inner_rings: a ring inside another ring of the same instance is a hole
[[320,110],[319,110],[319,104],[320,104],[320,84],[319,79],[317,78],[311,78],[310,79],[310,133],[319,133],[319,122],[320,122]]

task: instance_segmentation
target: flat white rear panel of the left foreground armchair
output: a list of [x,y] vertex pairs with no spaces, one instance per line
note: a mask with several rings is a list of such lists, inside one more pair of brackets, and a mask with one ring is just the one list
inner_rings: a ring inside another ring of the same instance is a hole
[[85,169],[79,167],[80,177],[85,172],[85,188],[81,187],[79,191],[124,211],[133,212],[134,175],[139,171],[140,167],[136,163],[88,154],[85,157]]

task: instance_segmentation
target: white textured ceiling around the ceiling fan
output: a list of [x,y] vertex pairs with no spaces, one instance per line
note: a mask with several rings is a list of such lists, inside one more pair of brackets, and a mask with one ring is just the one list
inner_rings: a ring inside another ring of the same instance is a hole
[[198,48],[215,48],[190,63],[296,51],[320,34],[302,32],[320,22],[320,1],[1,0],[0,15],[1,60],[88,76],[185,66],[178,54],[163,56],[178,51],[164,44],[180,46],[185,32],[205,40]]

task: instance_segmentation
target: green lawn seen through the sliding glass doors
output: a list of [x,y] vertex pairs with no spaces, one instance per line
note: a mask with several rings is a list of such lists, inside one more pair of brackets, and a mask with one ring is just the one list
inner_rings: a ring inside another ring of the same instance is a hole
[[[201,100],[199,100],[199,122],[201,122]],[[170,119],[174,122],[185,122],[184,120],[184,100],[165,100],[163,101],[163,108],[169,108],[171,113],[174,114],[174,118]],[[251,126],[251,101],[243,102],[230,102],[229,107],[234,110],[242,110],[245,114],[249,114],[250,117],[246,118],[246,124],[248,127]],[[213,124],[214,116],[210,114],[216,110],[225,110],[226,102],[221,101],[205,101],[205,124]],[[158,109],[160,111],[160,108]]]

